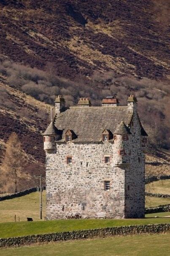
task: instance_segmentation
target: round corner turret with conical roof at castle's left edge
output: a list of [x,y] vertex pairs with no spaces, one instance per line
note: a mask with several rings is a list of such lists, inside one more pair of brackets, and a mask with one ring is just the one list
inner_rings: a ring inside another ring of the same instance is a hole
[[44,150],[47,153],[54,153],[56,151],[56,140],[59,139],[60,132],[54,126],[54,120],[51,120],[46,131],[43,133]]

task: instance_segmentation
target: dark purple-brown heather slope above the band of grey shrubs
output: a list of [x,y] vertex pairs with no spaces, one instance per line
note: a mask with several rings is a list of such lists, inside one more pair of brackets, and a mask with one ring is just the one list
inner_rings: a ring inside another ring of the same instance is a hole
[[0,1],[0,54],[57,75],[167,75],[169,1]]

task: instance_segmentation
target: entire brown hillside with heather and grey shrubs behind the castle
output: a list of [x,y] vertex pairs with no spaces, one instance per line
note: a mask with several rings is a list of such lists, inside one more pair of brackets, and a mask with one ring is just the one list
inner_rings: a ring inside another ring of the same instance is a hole
[[43,172],[40,132],[55,95],[64,95],[67,106],[79,97],[96,106],[108,95],[125,105],[135,93],[151,142],[146,173],[169,173],[169,155],[162,151],[170,136],[168,4],[0,0],[0,163],[15,131],[30,162],[27,172]]

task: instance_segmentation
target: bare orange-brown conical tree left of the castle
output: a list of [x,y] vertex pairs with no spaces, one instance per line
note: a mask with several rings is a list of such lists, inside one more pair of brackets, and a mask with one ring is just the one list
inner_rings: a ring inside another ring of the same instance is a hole
[[5,185],[8,187],[13,184],[14,192],[18,190],[19,179],[28,178],[24,170],[25,167],[24,151],[17,134],[13,132],[6,143],[6,151],[1,169]]

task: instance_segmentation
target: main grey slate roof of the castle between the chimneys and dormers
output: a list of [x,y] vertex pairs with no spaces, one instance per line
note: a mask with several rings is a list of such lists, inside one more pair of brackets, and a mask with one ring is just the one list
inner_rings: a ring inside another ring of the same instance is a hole
[[[76,134],[74,142],[100,142],[102,132],[108,129],[114,134],[118,124],[123,119],[130,124],[132,111],[124,107],[70,107],[57,114],[55,126],[63,130],[60,142],[65,141],[65,132],[70,129]],[[47,128],[48,129],[48,128]]]

